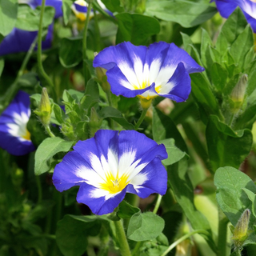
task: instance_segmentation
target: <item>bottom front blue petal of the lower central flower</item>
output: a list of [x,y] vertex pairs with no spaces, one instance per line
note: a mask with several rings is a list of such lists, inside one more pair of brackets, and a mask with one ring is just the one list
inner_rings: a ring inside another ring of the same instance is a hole
[[93,190],[95,190],[94,186],[86,183],[82,184],[78,190],[77,201],[86,204],[94,214],[98,215],[112,213],[126,195],[125,188],[112,198],[93,198],[90,196]]

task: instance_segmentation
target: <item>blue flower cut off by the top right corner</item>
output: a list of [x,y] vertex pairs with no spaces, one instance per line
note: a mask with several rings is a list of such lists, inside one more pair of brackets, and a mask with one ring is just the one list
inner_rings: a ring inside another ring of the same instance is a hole
[[254,33],[256,33],[256,1],[255,0],[212,0],[223,18],[229,18],[237,7],[240,7],[246,16]]

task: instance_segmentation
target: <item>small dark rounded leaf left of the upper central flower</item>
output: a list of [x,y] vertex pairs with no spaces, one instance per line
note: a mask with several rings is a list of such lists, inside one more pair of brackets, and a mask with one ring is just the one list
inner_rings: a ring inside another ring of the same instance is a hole
[[82,38],[62,38],[58,56],[62,66],[77,66],[82,61]]

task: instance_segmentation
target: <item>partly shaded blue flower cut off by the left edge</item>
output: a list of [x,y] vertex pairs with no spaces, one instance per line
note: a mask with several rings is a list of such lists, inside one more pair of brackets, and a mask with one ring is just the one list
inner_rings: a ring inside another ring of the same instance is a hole
[[0,147],[10,154],[23,155],[35,150],[26,124],[30,118],[30,95],[18,91],[0,116]]

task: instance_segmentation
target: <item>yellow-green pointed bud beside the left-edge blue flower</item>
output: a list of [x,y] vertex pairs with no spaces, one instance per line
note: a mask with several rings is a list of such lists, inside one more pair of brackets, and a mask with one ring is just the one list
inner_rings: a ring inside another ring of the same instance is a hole
[[38,106],[38,110],[34,110],[34,113],[38,115],[42,125],[48,126],[50,123],[50,114],[51,114],[51,106],[50,106],[50,98],[47,94],[47,89],[42,88],[42,96],[41,101]]

